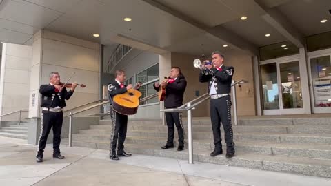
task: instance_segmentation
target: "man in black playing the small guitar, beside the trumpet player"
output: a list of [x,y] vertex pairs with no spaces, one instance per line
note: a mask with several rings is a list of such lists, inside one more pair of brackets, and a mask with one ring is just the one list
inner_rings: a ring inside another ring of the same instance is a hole
[[[179,67],[172,67],[170,70],[169,78],[159,84],[154,83],[154,89],[159,91],[161,87],[165,87],[165,108],[177,108],[183,105],[183,96],[186,88],[186,80]],[[181,121],[181,112],[165,112],[165,119],[168,126],[168,141],[162,149],[169,149],[174,147],[174,124],[176,124],[179,145],[177,150],[184,149],[185,130]]]

